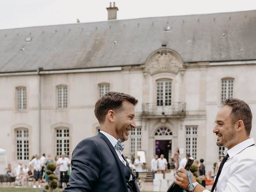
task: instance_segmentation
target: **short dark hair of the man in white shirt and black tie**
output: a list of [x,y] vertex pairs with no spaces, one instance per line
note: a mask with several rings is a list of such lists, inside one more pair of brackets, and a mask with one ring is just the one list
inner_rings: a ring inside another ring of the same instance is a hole
[[247,136],[250,135],[252,129],[252,112],[249,105],[243,100],[236,98],[229,98],[223,101],[223,106],[232,107],[232,111],[230,113],[232,123],[236,123],[238,120],[242,120],[244,122],[244,128]]

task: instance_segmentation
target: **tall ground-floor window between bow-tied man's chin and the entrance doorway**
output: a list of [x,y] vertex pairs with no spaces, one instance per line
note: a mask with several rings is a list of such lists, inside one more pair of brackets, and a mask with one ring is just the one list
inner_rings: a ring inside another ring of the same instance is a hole
[[131,130],[131,145],[130,145],[130,152],[131,155],[136,157],[137,151],[141,149],[141,127],[134,128]]

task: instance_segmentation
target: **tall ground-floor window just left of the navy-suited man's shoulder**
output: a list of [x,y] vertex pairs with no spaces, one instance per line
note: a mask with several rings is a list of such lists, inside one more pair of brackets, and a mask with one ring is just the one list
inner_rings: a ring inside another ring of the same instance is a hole
[[58,128],[55,130],[56,138],[56,155],[62,153],[69,155],[69,130],[68,128]]

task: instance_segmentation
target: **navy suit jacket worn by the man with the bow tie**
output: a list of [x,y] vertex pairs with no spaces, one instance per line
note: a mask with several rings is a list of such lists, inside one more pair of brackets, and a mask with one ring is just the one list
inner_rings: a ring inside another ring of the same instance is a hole
[[[128,192],[122,162],[102,133],[82,140],[73,151],[71,164],[65,192]],[[140,192],[136,181],[132,190]]]

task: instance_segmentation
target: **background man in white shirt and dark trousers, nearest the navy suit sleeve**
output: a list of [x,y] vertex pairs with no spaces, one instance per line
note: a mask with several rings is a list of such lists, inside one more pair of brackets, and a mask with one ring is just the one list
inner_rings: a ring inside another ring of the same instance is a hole
[[70,165],[69,158],[66,157],[65,153],[61,154],[61,157],[57,160],[56,165],[60,166],[60,185],[59,188],[62,188],[62,183],[68,183],[68,166]]

